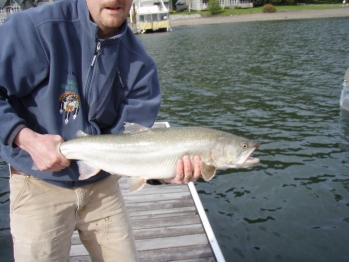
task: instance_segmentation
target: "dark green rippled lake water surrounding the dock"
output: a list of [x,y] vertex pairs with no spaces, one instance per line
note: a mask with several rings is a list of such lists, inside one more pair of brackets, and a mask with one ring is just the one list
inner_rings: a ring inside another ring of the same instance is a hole
[[[159,68],[158,121],[258,140],[261,163],[196,183],[227,261],[349,260],[349,18],[139,35]],[[0,259],[11,261],[6,166]]]

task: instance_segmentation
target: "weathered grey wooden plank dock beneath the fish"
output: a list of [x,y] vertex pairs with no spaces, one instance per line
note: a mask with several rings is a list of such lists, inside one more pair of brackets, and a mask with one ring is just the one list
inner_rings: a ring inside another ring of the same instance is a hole
[[[197,209],[187,185],[146,185],[139,192],[129,193],[125,178],[120,179],[119,184],[140,261],[224,262],[219,247],[217,255],[217,249],[215,251],[212,246],[213,232],[206,234],[207,227],[199,215],[204,211]],[[91,261],[77,233],[72,237],[70,259],[72,262]]]

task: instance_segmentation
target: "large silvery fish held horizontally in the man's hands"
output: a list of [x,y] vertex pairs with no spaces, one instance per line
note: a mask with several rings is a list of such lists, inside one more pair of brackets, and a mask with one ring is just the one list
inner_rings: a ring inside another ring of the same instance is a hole
[[260,161],[251,154],[259,143],[231,133],[206,127],[148,128],[125,123],[121,134],[87,135],[63,142],[61,153],[77,160],[79,180],[101,170],[127,176],[130,192],[143,188],[148,179],[175,176],[178,160],[188,155],[201,158],[201,174],[211,180],[217,170],[248,168]]

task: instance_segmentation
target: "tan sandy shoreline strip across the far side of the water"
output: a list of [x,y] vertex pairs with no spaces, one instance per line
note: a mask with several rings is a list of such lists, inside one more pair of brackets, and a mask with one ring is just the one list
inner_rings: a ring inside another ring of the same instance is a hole
[[254,13],[254,14],[233,15],[233,16],[182,18],[182,19],[171,20],[171,27],[253,22],[253,21],[315,19],[315,18],[331,18],[331,17],[349,17],[349,8],[343,7],[343,8],[328,9],[328,10],[278,11],[276,13]]

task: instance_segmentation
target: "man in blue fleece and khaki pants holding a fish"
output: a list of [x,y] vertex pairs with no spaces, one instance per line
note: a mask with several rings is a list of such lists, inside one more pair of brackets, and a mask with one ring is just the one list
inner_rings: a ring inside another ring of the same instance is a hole
[[[11,165],[16,261],[68,261],[76,229],[93,261],[137,261],[117,177],[79,181],[76,162],[59,151],[78,130],[120,133],[124,122],[155,121],[157,69],[127,26],[131,3],[62,0],[0,26],[1,157]],[[192,166],[184,157],[165,182],[200,176],[200,159]]]

